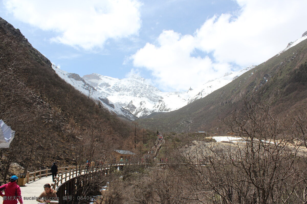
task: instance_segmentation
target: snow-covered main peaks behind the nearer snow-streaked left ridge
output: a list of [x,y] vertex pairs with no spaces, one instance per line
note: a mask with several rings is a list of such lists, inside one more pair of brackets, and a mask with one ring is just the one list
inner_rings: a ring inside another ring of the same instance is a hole
[[109,100],[124,107],[135,116],[142,117],[153,112],[169,112],[179,109],[223,87],[254,67],[250,66],[239,72],[227,73],[221,78],[208,81],[200,88],[194,90],[190,88],[186,92],[162,92],[146,83],[144,78],[136,75],[117,79],[93,73],[83,76],[83,79]]

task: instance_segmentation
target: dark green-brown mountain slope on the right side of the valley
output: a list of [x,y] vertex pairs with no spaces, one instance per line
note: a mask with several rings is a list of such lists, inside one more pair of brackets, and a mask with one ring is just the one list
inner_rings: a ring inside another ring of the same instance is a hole
[[[195,100],[181,109],[155,114],[151,118],[139,119],[137,122],[145,128],[166,131],[205,130],[215,133],[216,128],[219,128],[219,118],[226,117],[233,110],[241,109],[243,98],[247,95],[258,99],[274,96],[274,108],[289,112],[299,104],[307,102],[306,61],[307,40],[304,39],[204,98]],[[301,81],[293,80],[296,78]]]

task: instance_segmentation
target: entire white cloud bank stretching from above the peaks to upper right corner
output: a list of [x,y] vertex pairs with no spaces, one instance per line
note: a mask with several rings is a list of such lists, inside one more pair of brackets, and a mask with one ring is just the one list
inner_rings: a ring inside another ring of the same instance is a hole
[[[135,67],[150,71],[160,89],[187,90],[238,66],[259,64],[307,30],[307,1],[237,0],[241,10],[214,16],[193,35],[163,31],[131,56]],[[193,57],[195,49],[211,53]]]

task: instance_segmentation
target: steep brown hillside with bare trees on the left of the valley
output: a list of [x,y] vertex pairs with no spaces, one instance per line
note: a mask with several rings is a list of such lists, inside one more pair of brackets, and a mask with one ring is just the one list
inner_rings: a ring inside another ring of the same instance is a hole
[[[16,131],[10,148],[0,150],[1,180],[50,168],[54,161],[84,164],[97,148],[106,157],[114,149],[132,147],[128,138],[134,124],[74,89],[51,65],[19,29],[0,18],[0,119]],[[19,172],[12,172],[12,166]]]

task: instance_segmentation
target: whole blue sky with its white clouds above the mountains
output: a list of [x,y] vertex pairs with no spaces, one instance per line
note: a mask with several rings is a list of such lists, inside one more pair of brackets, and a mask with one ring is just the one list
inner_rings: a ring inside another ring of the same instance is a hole
[[307,1],[2,0],[1,17],[60,68],[185,91],[259,64],[307,30]]

